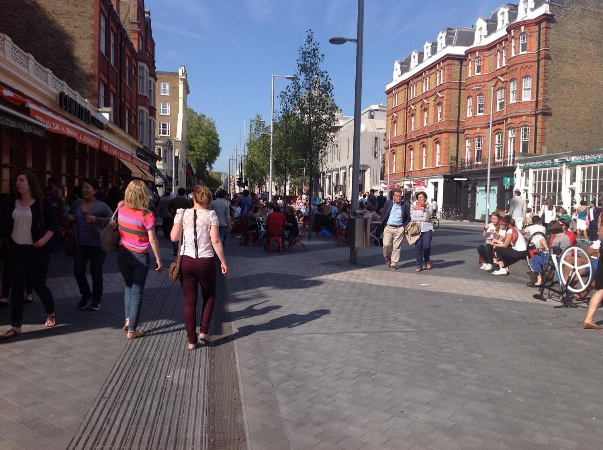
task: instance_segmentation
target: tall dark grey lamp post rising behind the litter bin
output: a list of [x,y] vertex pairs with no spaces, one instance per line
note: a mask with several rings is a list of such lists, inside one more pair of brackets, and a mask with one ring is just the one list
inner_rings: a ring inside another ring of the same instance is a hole
[[[352,214],[358,211],[358,190],[360,178],[360,120],[362,111],[362,47],[364,42],[364,0],[358,0],[358,25],[356,38],[332,37],[335,45],[346,42],[356,43],[356,89],[354,94],[354,145],[352,153]],[[358,264],[358,248],[350,242],[350,264]]]

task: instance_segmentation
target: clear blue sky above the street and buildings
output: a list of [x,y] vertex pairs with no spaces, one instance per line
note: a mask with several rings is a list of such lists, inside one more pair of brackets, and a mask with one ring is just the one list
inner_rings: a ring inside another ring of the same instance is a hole
[[[470,27],[500,0],[365,0],[362,107],[385,102],[393,63],[446,27]],[[356,46],[331,45],[356,34],[355,0],[145,0],[151,10],[157,70],[186,66],[189,105],[213,117],[222,153],[213,169],[227,171],[244,123],[270,121],[271,74],[295,72],[298,48],[311,28],[324,53],[335,102],[352,115]],[[276,80],[277,93],[286,80]]]

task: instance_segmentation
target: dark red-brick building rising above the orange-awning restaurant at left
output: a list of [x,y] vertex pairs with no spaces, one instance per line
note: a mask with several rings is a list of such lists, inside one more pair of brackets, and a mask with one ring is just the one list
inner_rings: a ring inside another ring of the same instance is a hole
[[[106,139],[119,154],[153,167],[154,42],[144,0],[7,0],[3,6],[0,28],[14,45],[78,92],[87,109],[106,116]],[[96,176],[104,186],[146,177],[128,163],[103,155]],[[76,182],[65,180],[69,187]]]

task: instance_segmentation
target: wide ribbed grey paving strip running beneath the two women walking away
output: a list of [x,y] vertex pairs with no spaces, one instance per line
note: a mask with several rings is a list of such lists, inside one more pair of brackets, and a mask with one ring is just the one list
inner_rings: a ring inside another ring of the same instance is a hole
[[209,351],[187,348],[180,283],[145,292],[141,319],[69,449],[206,448]]

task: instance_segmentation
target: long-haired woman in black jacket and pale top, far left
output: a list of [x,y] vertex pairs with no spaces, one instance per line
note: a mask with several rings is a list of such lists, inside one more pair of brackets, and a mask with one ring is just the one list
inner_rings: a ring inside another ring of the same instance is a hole
[[11,276],[11,328],[0,335],[10,339],[21,334],[27,276],[46,310],[45,327],[57,324],[52,292],[46,286],[50,264],[48,241],[58,233],[57,216],[48,198],[42,195],[36,175],[25,170],[17,175],[16,198],[8,198],[2,214],[2,237],[8,241],[8,266]]

